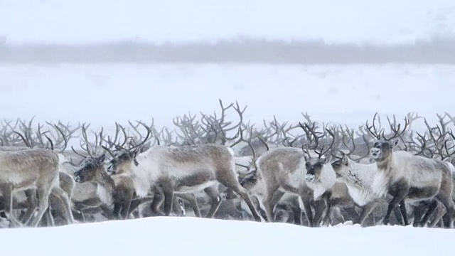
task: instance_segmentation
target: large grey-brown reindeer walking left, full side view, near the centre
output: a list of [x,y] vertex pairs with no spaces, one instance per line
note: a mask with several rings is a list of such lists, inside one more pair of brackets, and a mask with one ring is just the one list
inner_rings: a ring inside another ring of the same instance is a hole
[[127,161],[121,161],[120,157],[112,159],[109,171],[127,166],[139,197],[147,196],[149,191],[164,195],[164,215],[171,213],[174,193],[181,196],[181,193],[204,190],[212,201],[207,215],[212,218],[220,206],[218,184],[222,184],[239,194],[255,219],[261,220],[247,190],[237,181],[233,155],[232,149],[217,144],[153,146],[132,154]]

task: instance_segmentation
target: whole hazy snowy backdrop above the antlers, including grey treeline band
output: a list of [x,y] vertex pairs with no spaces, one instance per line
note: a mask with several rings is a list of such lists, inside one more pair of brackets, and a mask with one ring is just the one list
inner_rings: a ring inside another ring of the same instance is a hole
[[433,122],[454,110],[454,62],[453,0],[0,0],[6,119],[172,126],[221,99],[258,126]]

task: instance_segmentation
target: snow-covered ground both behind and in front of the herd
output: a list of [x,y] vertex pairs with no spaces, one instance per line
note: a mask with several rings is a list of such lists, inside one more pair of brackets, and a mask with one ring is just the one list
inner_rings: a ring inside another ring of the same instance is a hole
[[[415,111],[434,122],[454,110],[450,65],[1,65],[0,117],[90,122],[218,111],[248,105],[245,119],[297,122],[301,112],[350,127],[375,112]],[[418,128],[418,127],[414,127]],[[455,230],[376,226],[304,228],[198,218],[145,218],[0,230],[5,255],[449,255]]]

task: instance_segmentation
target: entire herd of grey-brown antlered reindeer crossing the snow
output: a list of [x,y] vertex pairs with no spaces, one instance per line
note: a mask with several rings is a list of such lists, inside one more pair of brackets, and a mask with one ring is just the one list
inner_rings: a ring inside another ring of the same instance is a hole
[[[348,220],[452,228],[455,118],[417,114],[358,129],[274,118],[260,129],[236,102],[185,114],[174,129],[4,120],[0,225],[53,226],[152,216],[284,222]],[[237,122],[228,114],[236,114]],[[424,132],[412,129],[423,121]],[[79,140],[77,146],[69,146]],[[70,147],[70,149],[68,149]],[[392,215],[392,213],[394,213]]]

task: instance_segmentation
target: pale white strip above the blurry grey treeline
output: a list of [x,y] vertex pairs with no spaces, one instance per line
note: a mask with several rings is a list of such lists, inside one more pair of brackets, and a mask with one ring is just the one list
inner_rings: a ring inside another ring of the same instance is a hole
[[252,36],[329,43],[413,43],[455,36],[450,0],[4,0],[9,43],[155,43]]

